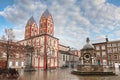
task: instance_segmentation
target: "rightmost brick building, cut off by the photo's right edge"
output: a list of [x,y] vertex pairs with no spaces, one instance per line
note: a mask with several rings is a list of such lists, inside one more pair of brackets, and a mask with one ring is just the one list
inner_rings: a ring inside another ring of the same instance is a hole
[[108,65],[110,67],[120,66],[120,40],[107,43]]

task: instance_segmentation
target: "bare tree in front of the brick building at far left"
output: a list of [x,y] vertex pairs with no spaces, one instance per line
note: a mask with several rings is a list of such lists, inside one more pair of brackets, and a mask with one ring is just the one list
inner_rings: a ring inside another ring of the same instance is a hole
[[16,58],[16,54],[24,54],[26,51],[25,46],[22,46],[16,42],[13,42],[15,36],[12,29],[5,29],[5,33],[7,36],[7,40],[5,36],[2,37],[0,41],[0,56],[2,56],[2,53],[6,53],[6,66],[5,68],[8,68],[8,62],[9,58]]

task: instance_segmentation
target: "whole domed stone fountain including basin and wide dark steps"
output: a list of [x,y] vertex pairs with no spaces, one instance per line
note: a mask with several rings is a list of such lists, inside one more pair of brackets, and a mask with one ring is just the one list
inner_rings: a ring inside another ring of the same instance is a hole
[[89,38],[86,39],[86,44],[81,49],[81,64],[77,65],[77,70],[72,71],[78,75],[115,75],[113,72],[104,71],[100,61],[96,61],[96,51],[89,43]]

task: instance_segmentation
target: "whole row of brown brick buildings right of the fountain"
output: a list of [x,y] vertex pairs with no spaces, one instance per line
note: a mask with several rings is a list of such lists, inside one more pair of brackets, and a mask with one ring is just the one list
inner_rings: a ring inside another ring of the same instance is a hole
[[120,40],[93,43],[97,60],[108,67],[120,66]]

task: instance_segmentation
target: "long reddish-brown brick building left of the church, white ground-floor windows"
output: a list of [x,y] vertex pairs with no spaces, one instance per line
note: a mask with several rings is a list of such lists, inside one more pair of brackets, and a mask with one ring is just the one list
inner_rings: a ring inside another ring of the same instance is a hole
[[25,52],[26,52],[25,47],[20,44],[0,40],[0,68],[24,67]]

